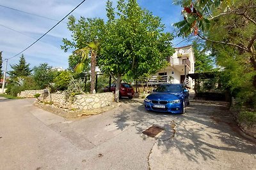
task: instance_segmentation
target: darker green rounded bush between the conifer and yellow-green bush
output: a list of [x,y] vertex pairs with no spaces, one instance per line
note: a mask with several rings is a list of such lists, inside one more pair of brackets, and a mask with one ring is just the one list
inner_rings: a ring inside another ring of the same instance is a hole
[[33,78],[40,89],[51,86],[54,79],[54,73],[51,71],[51,68],[47,63],[34,67]]

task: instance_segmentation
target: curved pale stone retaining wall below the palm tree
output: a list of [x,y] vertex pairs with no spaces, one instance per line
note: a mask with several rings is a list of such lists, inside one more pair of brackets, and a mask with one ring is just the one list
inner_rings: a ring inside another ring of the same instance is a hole
[[[44,101],[49,102],[49,97],[44,99]],[[74,96],[72,101],[66,101],[65,94],[51,94],[51,101],[60,108],[70,110],[93,110],[111,106],[111,104],[113,104],[113,93],[80,94]]]

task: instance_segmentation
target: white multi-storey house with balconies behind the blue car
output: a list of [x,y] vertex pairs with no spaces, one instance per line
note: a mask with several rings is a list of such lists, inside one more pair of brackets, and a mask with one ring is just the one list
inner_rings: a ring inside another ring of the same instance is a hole
[[175,48],[175,53],[167,58],[169,66],[161,69],[148,80],[148,85],[163,83],[184,83],[186,74],[186,87],[193,88],[195,81],[188,76],[195,73],[195,56],[191,45]]

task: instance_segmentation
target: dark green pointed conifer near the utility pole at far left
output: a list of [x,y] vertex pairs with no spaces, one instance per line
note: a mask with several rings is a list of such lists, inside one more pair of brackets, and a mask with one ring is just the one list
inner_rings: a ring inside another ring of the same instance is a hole
[[22,54],[19,60],[19,64],[11,65],[12,71],[9,71],[10,78],[15,78],[18,76],[30,76],[32,70],[29,69],[30,64],[26,64],[24,55]]

